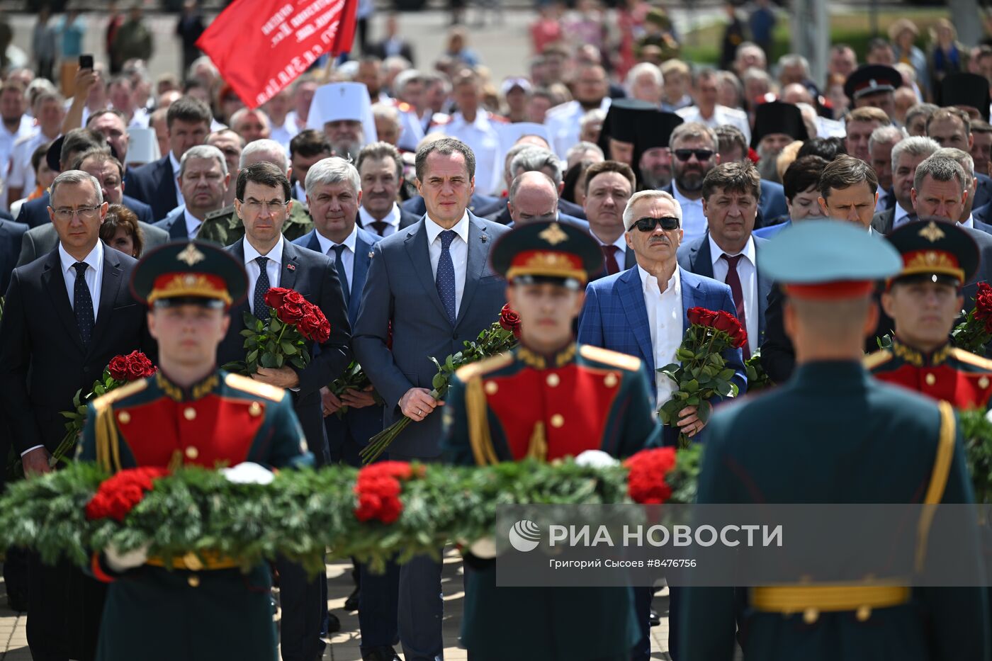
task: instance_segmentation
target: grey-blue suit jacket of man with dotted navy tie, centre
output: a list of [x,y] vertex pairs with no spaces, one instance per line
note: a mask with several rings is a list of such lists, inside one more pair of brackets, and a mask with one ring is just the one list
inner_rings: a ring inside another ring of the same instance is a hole
[[[432,388],[443,360],[464,348],[499,317],[506,281],[492,270],[489,251],[509,229],[468,214],[465,288],[454,325],[434,285],[425,220],[391,234],[372,248],[372,265],[362,292],[351,346],[376,390],[386,400],[384,425],[403,417],[400,399],[411,388]],[[392,322],[393,347],[387,346]],[[392,455],[431,459],[440,455],[441,412],[434,411],[400,435]]]

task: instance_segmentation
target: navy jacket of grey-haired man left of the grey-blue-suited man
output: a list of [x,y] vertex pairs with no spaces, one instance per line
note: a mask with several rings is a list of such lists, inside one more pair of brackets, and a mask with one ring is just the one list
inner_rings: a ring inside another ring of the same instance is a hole
[[[358,320],[358,311],[362,304],[362,290],[365,288],[369,264],[372,262],[372,247],[381,240],[382,237],[375,232],[358,228],[358,236],[355,240],[355,261],[352,265],[351,282],[349,283],[351,291],[348,296],[344,297],[348,306],[348,324],[351,328],[355,328],[355,322]],[[320,252],[320,242],[317,241],[315,229],[311,229],[294,243],[314,252]],[[335,375],[334,378],[337,376]],[[370,438],[382,431],[382,407],[349,408],[343,417],[339,418],[337,415],[324,417],[323,424],[327,430],[330,457],[334,460],[342,456],[346,438],[350,438],[353,444],[364,447]],[[345,459],[349,458],[347,454],[343,456]],[[351,457],[350,459],[355,460],[356,458]]]

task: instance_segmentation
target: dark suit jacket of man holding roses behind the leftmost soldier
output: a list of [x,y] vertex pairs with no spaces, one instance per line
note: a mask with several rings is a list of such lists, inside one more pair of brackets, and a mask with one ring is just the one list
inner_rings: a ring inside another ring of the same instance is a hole
[[[241,238],[224,248],[234,255],[239,264],[244,264],[244,241]],[[293,406],[307,436],[310,452],[317,465],[323,465],[327,462],[328,451],[323,430],[320,388],[337,378],[351,362],[351,349],[348,347],[351,328],[348,325],[344,299],[341,297],[337,270],[330,259],[284,241],[282,262],[279,286],[296,290],[310,303],[319,306],[330,324],[330,337],[327,341],[319,347],[310,342],[310,364],[305,369],[297,370],[300,387],[293,392]],[[252,293],[248,292],[248,299],[251,296]],[[240,332],[245,328],[244,313],[251,313],[248,299],[231,309],[230,328],[217,347],[219,365],[245,359],[244,337]]]

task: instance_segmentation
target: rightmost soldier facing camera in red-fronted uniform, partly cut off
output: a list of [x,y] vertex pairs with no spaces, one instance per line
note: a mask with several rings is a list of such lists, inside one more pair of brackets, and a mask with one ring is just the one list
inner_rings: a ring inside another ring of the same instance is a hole
[[963,307],[961,285],[978,269],[978,247],[956,222],[936,220],[903,225],[889,241],[903,256],[903,270],[882,294],[895,336],[892,348],[865,358],[865,367],[880,381],[955,408],[987,409],[992,360],[950,345],[950,330]]

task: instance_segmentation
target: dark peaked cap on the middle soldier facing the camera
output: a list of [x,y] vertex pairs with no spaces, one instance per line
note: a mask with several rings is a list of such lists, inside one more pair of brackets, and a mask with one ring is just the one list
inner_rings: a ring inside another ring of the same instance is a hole
[[550,282],[579,289],[603,268],[603,253],[587,232],[558,221],[515,227],[493,246],[493,269],[512,283]]

